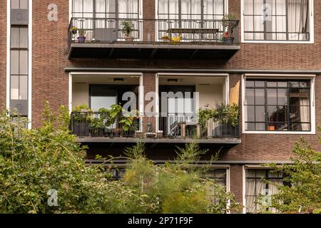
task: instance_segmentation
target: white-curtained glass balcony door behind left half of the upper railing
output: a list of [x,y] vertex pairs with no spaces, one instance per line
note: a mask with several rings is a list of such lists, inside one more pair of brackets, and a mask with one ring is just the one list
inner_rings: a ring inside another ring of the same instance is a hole
[[121,22],[125,19],[134,26],[133,37],[140,38],[140,0],[73,0],[72,9],[73,25],[86,30],[87,41],[123,38]]

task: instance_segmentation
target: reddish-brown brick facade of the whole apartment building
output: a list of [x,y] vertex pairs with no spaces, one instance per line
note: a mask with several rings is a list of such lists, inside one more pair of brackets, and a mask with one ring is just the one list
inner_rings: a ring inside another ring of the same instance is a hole
[[[44,100],[49,100],[53,108],[68,105],[68,73],[66,67],[121,67],[121,68],[222,68],[222,69],[321,69],[321,1],[314,1],[315,43],[241,43],[238,51],[229,61],[218,60],[120,60],[120,59],[71,59],[68,60],[68,0],[56,0],[58,22],[47,19],[49,0],[33,1],[32,18],[32,120],[36,127],[41,123]],[[240,1],[229,0],[229,12],[240,16]],[[155,16],[155,0],[143,0],[143,18]],[[6,102],[6,1],[0,2],[0,103]],[[154,38],[153,25],[146,28],[144,39]],[[144,73],[145,93],[155,89],[155,73]],[[240,81],[240,74],[230,74],[230,88]],[[240,95],[241,98],[241,95]],[[321,76],[315,82],[316,124],[321,126]],[[241,103],[240,103],[241,104]],[[241,116],[242,118],[242,116]],[[293,142],[302,135],[259,135],[243,134],[242,143],[224,148],[220,160],[289,160]],[[315,135],[304,135],[320,149]],[[103,147],[103,146],[102,146]],[[109,149],[108,149],[109,150]],[[218,147],[213,147],[213,150]],[[103,151],[103,150],[101,150]],[[158,159],[168,159],[168,149],[151,148],[149,153]],[[230,189],[238,201],[242,201],[242,165],[230,167]]]

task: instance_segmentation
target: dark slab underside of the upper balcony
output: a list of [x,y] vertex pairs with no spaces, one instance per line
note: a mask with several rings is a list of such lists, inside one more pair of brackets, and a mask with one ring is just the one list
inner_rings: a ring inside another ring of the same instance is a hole
[[240,46],[145,43],[71,43],[68,58],[221,59]]

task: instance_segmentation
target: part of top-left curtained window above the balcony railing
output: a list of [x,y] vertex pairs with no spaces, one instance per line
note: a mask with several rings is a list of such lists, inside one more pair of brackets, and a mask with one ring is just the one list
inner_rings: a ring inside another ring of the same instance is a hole
[[140,0],[73,0],[75,18],[138,19]]

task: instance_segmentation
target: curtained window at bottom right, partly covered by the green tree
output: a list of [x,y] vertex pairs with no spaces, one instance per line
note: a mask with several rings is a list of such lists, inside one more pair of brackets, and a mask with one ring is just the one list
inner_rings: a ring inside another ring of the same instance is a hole
[[[245,202],[247,213],[262,212],[262,210],[276,212],[272,207],[262,208],[259,204],[260,197],[272,196],[277,193],[276,185],[283,185],[282,173],[272,170],[247,169],[245,173]],[[265,182],[265,180],[270,183]],[[267,205],[268,206],[268,205]]]

